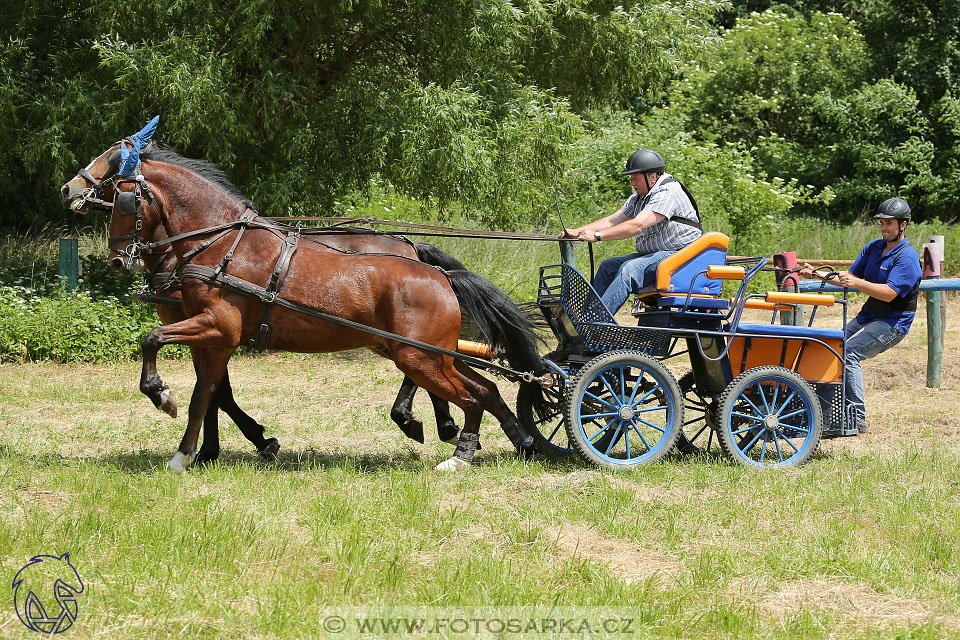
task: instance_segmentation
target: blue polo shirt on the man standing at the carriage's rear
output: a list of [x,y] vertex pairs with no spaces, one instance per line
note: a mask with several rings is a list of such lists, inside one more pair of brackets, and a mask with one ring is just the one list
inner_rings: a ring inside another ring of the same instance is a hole
[[[868,282],[885,284],[896,291],[898,296],[906,298],[920,284],[923,275],[920,270],[920,256],[916,249],[910,246],[906,236],[897,243],[893,251],[883,255],[886,244],[883,238],[867,244],[853,261],[850,273]],[[890,311],[886,315],[877,315],[860,309],[857,322],[864,324],[879,319],[905,334],[910,331],[915,315],[913,311]]]

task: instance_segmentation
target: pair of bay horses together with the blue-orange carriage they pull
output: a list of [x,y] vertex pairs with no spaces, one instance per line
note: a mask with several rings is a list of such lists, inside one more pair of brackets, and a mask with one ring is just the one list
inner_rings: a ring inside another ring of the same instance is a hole
[[[619,324],[573,266],[543,267],[537,302],[558,343],[543,357],[529,316],[483,278],[443,264],[456,262],[449,256],[438,263],[421,245],[369,228],[266,220],[216,167],[151,144],[155,128],[156,120],[114,143],[62,194],[77,211],[111,210],[114,265],[146,263],[153,284],[176,297],[177,314],[161,315],[167,324],[143,340],[140,388],[175,414],[156,355],[165,344],[191,348],[197,384],[170,463],[177,471],[196,459],[200,426],[229,389],[227,363],[244,344],[369,348],[390,358],[405,387],[422,386],[435,407],[450,401],[464,412],[457,450],[438,465],[445,470],[469,466],[484,411],[525,453],[576,451],[611,469],[675,448],[722,448],[746,465],[791,466],[808,460],[822,437],[856,433],[843,410],[842,330],[741,322],[748,308],[775,317],[777,305],[836,303],[845,321],[846,301],[777,292],[758,301],[747,285],[766,259],[727,260],[722,234],[705,234],[660,264],[655,285],[639,292],[637,326]],[[729,300],[725,280],[740,282]],[[499,362],[458,351],[464,315]],[[690,371],[677,381],[663,361],[681,354]],[[520,383],[519,421],[477,369]],[[694,416],[685,420],[686,411]],[[257,439],[247,435],[276,452],[262,428]]]

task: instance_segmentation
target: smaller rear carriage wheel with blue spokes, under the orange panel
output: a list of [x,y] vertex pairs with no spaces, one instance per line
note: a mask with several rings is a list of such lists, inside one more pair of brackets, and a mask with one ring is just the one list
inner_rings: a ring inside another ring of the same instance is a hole
[[795,467],[820,446],[823,412],[810,384],[783,367],[740,374],[720,396],[720,443],[748,467]]

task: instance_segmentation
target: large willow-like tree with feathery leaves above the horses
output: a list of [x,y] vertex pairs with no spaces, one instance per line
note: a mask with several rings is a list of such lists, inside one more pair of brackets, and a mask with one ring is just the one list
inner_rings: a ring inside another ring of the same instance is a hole
[[[587,106],[655,92],[715,39],[721,0],[12,0],[0,40],[0,222],[155,113],[272,214],[382,176],[508,226]],[[5,27],[6,29],[6,27]]]

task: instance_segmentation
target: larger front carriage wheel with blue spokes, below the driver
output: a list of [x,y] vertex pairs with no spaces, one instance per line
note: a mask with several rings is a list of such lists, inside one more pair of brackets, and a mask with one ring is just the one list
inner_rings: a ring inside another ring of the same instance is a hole
[[683,424],[673,374],[637,351],[614,351],[588,362],[570,385],[566,413],[573,448],[614,470],[663,458]]

